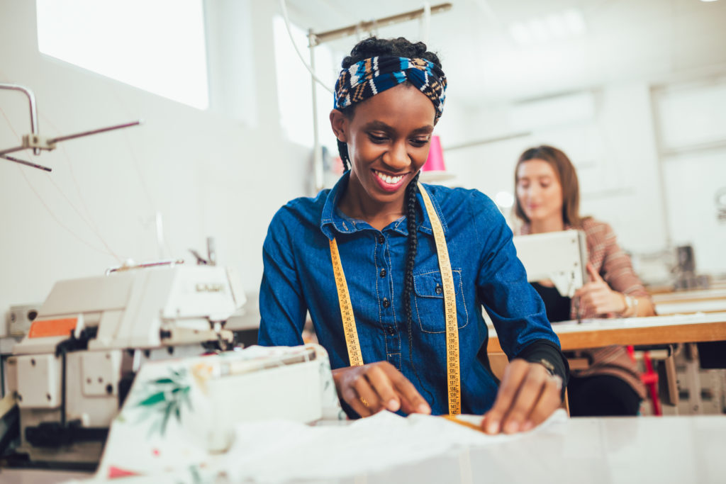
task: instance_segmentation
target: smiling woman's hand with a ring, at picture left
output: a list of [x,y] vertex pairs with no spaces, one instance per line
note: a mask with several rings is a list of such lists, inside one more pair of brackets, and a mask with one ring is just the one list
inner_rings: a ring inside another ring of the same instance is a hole
[[405,414],[431,414],[431,407],[416,387],[388,361],[333,370],[338,397],[361,417],[383,409]]

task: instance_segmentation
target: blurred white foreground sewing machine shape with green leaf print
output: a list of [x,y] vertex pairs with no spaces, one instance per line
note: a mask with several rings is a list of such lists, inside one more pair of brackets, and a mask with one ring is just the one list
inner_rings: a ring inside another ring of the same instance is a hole
[[188,482],[203,482],[239,422],[345,418],[319,345],[152,361],[111,425],[96,477],[181,472]]

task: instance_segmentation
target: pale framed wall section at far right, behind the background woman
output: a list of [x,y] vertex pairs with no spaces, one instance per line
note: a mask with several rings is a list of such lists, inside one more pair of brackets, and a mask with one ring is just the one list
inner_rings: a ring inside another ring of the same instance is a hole
[[726,274],[726,73],[653,89],[672,243],[698,273]]

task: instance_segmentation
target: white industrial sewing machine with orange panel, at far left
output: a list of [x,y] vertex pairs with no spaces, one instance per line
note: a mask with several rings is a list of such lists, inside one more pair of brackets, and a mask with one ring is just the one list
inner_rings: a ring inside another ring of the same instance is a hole
[[7,361],[32,462],[95,467],[142,361],[232,344],[227,318],[245,303],[219,266],[130,268],[57,282]]

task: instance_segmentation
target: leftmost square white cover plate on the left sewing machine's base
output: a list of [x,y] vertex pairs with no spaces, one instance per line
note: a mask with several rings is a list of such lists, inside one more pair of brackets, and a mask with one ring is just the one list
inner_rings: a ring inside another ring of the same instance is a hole
[[56,409],[60,406],[60,359],[54,355],[15,356],[18,406]]

